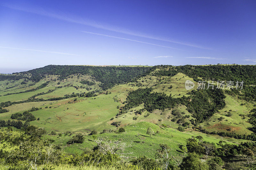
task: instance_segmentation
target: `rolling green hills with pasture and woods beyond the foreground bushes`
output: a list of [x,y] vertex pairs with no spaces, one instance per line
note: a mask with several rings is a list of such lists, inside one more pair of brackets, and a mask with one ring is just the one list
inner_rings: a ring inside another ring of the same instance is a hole
[[[180,158],[186,140],[195,136],[215,144],[256,141],[254,70],[253,65],[49,65],[1,74],[0,126],[43,128],[42,138],[67,154],[82,154],[96,138],[108,138],[131,144],[126,152],[133,157],[154,159],[164,143]],[[195,84],[189,90],[188,80]],[[205,88],[196,89],[199,81]],[[149,127],[155,136],[149,137]],[[67,144],[78,133],[84,142]]]

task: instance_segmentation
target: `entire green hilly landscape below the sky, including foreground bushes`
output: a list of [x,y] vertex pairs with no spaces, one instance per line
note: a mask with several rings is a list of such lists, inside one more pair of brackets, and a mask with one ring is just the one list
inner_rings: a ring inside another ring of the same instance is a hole
[[[49,65],[2,74],[1,168],[253,169],[255,69]],[[186,90],[186,80],[195,86]]]

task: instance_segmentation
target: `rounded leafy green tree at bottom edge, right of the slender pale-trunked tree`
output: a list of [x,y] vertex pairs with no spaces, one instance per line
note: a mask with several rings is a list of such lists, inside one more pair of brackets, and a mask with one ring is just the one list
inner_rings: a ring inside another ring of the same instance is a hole
[[181,170],[208,170],[209,167],[202,163],[199,156],[195,153],[188,153],[188,156],[183,158],[180,164]]

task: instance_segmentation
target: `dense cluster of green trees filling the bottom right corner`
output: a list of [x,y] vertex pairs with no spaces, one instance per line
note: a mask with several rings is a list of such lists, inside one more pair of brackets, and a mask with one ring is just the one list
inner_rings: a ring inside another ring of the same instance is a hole
[[[197,141],[197,140],[198,141]],[[204,142],[202,136],[192,136],[187,139],[186,146],[180,146],[183,151],[187,151],[191,156],[200,157],[199,155],[206,155],[212,158],[207,160],[208,168],[210,170],[232,169],[241,170],[255,167],[253,161],[256,154],[256,143],[246,142],[239,145],[227,144],[226,141],[219,141],[219,143]],[[184,164],[189,167],[189,164]],[[189,168],[188,168],[189,169]]]

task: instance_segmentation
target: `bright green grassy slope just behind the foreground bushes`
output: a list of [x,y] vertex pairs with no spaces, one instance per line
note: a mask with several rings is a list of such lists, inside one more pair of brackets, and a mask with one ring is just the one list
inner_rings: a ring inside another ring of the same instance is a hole
[[[148,127],[151,127],[154,132],[159,131],[158,136],[151,136],[146,134]],[[149,158],[154,158],[156,150],[159,149],[159,144],[167,144],[171,147],[171,154],[174,156],[179,156],[183,154],[180,147],[186,145],[186,139],[191,136],[201,135],[204,138],[204,141],[218,143],[221,138],[219,136],[206,135],[197,131],[186,131],[180,132],[176,129],[167,128],[163,129],[153,123],[149,122],[138,122],[124,127],[125,132],[123,133],[103,133],[98,134],[98,138],[106,138],[110,140],[121,140],[126,144],[131,144],[132,147],[129,147],[125,152],[133,152],[131,156],[139,157],[140,155],[145,155]],[[54,144],[59,144],[65,146],[67,141],[70,139],[69,136],[58,135],[54,136],[45,136],[45,138],[50,138],[55,140]],[[230,141],[229,144],[236,144],[244,142],[245,140],[224,138],[223,140]],[[81,154],[86,149],[92,149],[96,143],[93,142],[93,137],[91,135],[85,136],[85,141],[82,144],[73,144],[68,147],[65,147],[64,151],[73,154]]]

